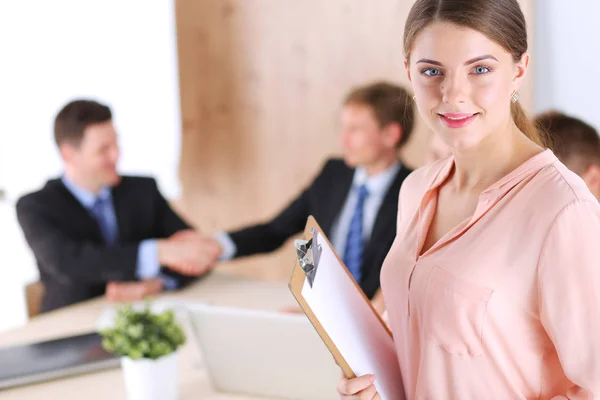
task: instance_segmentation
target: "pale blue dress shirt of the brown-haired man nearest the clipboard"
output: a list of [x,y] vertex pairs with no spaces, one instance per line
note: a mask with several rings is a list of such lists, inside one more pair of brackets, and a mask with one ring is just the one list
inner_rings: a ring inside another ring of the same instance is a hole
[[[396,162],[385,171],[373,176],[368,176],[364,167],[356,168],[350,192],[346,197],[346,201],[344,202],[340,214],[337,216],[331,227],[331,244],[338,254],[344,254],[346,249],[350,221],[352,220],[352,213],[354,212],[356,202],[358,201],[358,188],[364,183],[369,190],[369,196],[365,200],[363,211],[363,236],[365,242],[368,242],[371,237],[371,232],[373,231],[373,226],[375,225],[375,219],[381,208],[381,203],[401,167],[402,165],[400,162]],[[235,257],[237,248],[227,233],[217,232],[215,234],[215,239],[223,249],[219,260],[227,261]]]

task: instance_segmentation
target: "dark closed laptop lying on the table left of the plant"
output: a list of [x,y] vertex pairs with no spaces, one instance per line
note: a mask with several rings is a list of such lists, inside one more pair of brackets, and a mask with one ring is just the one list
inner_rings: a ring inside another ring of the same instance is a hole
[[115,368],[97,333],[0,348],[0,389]]

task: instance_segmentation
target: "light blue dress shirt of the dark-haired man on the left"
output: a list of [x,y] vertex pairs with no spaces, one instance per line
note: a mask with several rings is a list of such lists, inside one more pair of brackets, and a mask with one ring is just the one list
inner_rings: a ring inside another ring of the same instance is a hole
[[[65,187],[75,196],[77,201],[81,203],[81,205],[94,217],[91,209],[94,206],[97,199],[108,200],[106,204],[109,204],[108,207],[104,207],[102,209],[104,213],[104,218],[108,225],[114,229],[115,232],[118,232],[118,224],[117,224],[117,216],[115,214],[115,208],[112,201],[112,194],[109,187],[104,187],[98,192],[98,194],[94,194],[87,189],[82,188],[77,185],[75,182],[70,180],[66,175],[62,177],[62,182]],[[95,218],[95,217],[94,217]],[[140,242],[138,247],[138,257],[136,264],[136,276],[138,279],[151,279],[151,278],[160,278],[164,283],[165,289],[177,289],[178,282],[175,278],[171,276],[167,276],[161,274],[160,272],[160,264],[158,261],[158,247],[156,243],[156,239],[146,239]]]

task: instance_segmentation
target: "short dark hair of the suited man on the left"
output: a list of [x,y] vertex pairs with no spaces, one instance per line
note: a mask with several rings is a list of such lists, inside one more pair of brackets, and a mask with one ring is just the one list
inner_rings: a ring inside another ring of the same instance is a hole
[[112,119],[110,108],[94,100],[73,100],[54,119],[54,140],[58,147],[69,143],[79,147],[85,129]]

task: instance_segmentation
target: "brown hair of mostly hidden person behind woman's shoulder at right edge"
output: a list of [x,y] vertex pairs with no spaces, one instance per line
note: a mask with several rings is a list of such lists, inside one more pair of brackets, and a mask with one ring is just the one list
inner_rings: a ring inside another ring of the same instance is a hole
[[600,136],[591,125],[559,111],[542,113],[534,123],[547,132],[554,154],[574,172],[600,165]]

